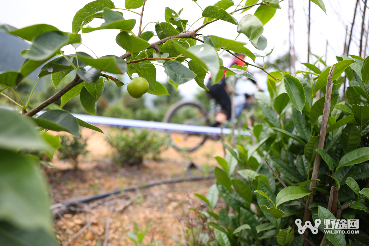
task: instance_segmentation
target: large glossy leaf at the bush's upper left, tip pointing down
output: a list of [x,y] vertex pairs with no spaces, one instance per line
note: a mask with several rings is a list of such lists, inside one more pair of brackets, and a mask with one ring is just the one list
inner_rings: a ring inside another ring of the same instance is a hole
[[287,94],[291,99],[292,104],[297,110],[302,113],[302,109],[305,105],[305,92],[304,86],[301,82],[291,75],[284,75],[284,87],[286,88]]

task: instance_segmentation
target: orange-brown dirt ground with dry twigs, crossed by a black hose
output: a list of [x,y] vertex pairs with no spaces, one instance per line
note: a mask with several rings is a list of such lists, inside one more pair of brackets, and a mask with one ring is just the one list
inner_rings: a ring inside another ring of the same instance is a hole
[[[108,134],[112,132],[111,128],[101,129]],[[220,143],[207,140],[200,149],[189,154],[169,148],[161,153],[159,161],[144,160],[141,167],[117,167],[111,162],[114,150],[105,141],[105,135],[83,128],[82,137],[89,138],[89,152],[79,160],[79,170],[71,170],[72,164],[57,157],[51,163],[54,168],[48,170],[48,178],[52,203],[151,181],[208,176],[217,164],[213,156],[224,156]],[[189,174],[187,167],[191,161],[199,168],[191,169]],[[194,193],[206,196],[214,182],[208,179],[161,184],[72,206],[71,211],[59,214],[54,220],[57,238],[61,245],[69,242],[71,246],[134,245],[127,237],[128,231],[134,231],[134,222],[144,230],[151,221],[142,245],[155,240],[160,241],[156,245],[186,245],[191,233],[189,228],[201,223],[190,208],[207,210],[207,205]],[[222,204],[220,201],[218,206]],[[77,235],[81,228],[86,229]]]

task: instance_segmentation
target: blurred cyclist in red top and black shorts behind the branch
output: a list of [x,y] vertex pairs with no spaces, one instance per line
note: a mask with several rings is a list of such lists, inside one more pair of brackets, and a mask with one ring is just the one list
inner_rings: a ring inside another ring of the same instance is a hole
[[[236,53],[236,55],[242,59],[245,59],[244,54]],[[242,62],[241,60],[235,57],[232,57],[232,62],[231,62],[230,67],[233,65],[243,66],[244,64],[245,63]],[[228,95],[228,93],[230,92],[230,88],[225,83],[225,72],[226,70],[224,70],[224,75],[223,75],[223,78],[220,80],[220,82],[214,85],[211,85],[212,80],[210,76],[207,86],[206,86],[209,89],[208,95],[214,98],[215,101],[217,101],[217,103],[221,105],[221,111],[217,112],[217,114],[215,115],[215,122],[212,125],[212,127],[218,127],[219,125],[223,124],[226,120],[229,120],[231,118],[231,98]],[[252,83],[256,84],[255,80],[252,80],[252,79],[250,80]],[[258,89],[261,90],[259,87]],[[245,94],[245,96],[248,102],[253,100],[252,96],[249,96],[248,94]],[[245,104],[245,106],[246,105],[247,104]]]

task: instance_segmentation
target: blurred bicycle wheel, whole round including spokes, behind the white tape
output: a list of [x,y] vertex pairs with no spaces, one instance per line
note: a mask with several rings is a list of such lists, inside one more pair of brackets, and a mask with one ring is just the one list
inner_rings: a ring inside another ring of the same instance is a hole
[[[198,103],[178,102],[166,112],[164,122],[183,125],[209,126],[206,109]],[[206,141],[206,134],[169,132],[173,148],[178,151],[192,152]]]

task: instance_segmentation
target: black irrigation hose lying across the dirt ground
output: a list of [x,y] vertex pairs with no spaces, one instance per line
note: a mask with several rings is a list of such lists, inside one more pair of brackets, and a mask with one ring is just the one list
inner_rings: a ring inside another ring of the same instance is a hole
[[65,205],[65,207],[70,207],[72,205],[76,205],[76,204],[79,204],[79,203],[82,203],[82,202],[89,202],[89,201],[92,201],[92,200],[108,197],[109,195],[119,194],[119,193],[124,192],[124,191],[133,191],[133,190],[137,190],[137,189],[157,186],[159,184],[172,184],[172,183],[180,183],[180,182],[185,182],[185,181],[199,181],[199,180],[206,180],[206,179],[214,179],[214,176],[208,176],[208,177],[201,176],[201,177],[190,177],[190,178],[182,178],[182,179],[170,179],[170,180],[156,181],[156,182],[143,184],[141,186],[132,186],[132,187],[125,188],[125,189],[119,189],[119,190],[114,190],[114,191],[110,191],[110,192],[106,192],[106,193],[100,193],[100,194],[93,195],[91,197],[86,197],[86,198],[83,198],[83,199],[80,199],[80,200],[66,202],[63,205]]

